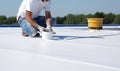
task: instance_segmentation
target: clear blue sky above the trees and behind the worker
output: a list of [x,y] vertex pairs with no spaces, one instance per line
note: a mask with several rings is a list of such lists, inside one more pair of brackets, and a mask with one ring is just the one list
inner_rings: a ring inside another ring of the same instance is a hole
[[[1,0],[0,15],[16,16],[22,0]],[[120,14],[120,0],[52,0],[51,14],[63,17],[67,14],[94,14],[95,12]],[[42,11],[42,15],[44,15]]]

